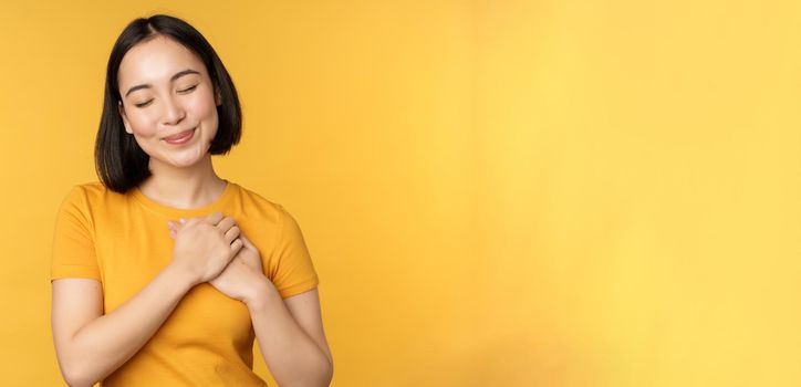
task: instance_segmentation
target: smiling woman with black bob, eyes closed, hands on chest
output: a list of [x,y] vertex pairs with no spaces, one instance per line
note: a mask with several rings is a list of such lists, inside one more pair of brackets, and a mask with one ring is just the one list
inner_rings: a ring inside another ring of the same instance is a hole
[[52,330],[67,384],[327,386],[319,283],[280,205],[217,176],[239,142],[233,83],[206,39],[168,15],[136,19],[108,60],[100,182],[56,218]]

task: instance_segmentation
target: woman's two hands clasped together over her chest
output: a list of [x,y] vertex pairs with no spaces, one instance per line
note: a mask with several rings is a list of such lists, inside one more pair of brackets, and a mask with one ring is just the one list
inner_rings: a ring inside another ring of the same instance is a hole
[[175,241],[173,263],[194,283],[208,282],[227,296],[249,304],[269,282],[259,250],[233,218],[214,212],[207,217],[168,221]]

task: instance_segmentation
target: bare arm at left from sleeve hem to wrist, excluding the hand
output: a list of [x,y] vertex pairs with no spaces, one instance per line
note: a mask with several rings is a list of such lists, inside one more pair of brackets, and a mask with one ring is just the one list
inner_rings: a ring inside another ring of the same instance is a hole
[[92,386],[113,373],[156,333],[191,289],[189,276],[170,265],[112,313],[103,313],[100,282],[53,281],[55,353],[70,386]]

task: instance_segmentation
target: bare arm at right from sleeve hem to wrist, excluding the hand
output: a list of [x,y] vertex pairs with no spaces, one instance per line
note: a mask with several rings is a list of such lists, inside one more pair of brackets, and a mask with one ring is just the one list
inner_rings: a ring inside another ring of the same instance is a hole
[[287,300],[267,279],[246,300],[259,348],[282,386],[329,386],[334,373],[325,341],[318,290]]

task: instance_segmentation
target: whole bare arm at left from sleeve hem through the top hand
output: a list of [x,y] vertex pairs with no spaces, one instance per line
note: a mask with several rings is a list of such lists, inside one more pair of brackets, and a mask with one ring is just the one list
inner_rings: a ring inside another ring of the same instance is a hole
[[215,212],[177,236],[173,261],[136,295],[103,315],[97,280],[53,281],[52,330],[64,379],[91,386],[136,354],[196,284],[217,276],[241,249],[239,228]]

